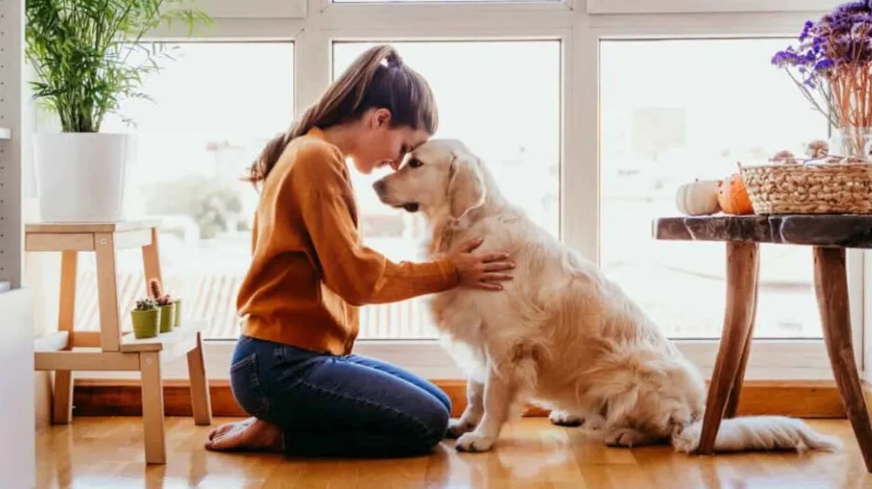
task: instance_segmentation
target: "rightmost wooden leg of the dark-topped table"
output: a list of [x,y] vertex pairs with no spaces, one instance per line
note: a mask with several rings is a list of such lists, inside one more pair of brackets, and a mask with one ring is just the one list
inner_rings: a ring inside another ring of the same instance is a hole
[[814,248],[814,292],[841,404],[848,412],[866,470],[872,472],[872,424],[854,357],[844,248]]

